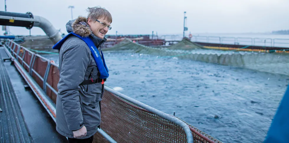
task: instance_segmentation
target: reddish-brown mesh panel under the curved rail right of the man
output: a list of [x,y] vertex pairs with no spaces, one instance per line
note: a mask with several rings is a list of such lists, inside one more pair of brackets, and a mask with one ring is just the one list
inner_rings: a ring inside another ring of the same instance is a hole
[[[178,125],[105,91],[101,101],[101,129],[116,142],[187,142]],[[108,142],[101,134],[94,143]]]

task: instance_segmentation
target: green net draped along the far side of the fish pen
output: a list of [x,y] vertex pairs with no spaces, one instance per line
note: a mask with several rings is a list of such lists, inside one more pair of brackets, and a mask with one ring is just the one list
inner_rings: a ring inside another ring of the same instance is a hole
[[285,52],[261,53],[213,50],[203,48],[186,39],[169,47],[149,47],[126,39],[111,48],[103,49],[103,51],[150,54],[158,58],[177,57],[179,59],[204,61],[289,76],[289,53]]

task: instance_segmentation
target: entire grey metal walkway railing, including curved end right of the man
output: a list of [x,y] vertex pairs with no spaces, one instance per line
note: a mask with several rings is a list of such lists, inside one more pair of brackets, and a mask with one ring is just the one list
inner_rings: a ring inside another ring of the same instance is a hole
[[[47,89],[50,89],[55,95],[57,95],[57,90],[50,85],[47,80],[49,77],[49,74],[51,74],[50,69],[52,66],[57,67],[58,65],[52,63],[50,60],[40,56],[39,54],[35,54],[34,52],[30,51],[29,49],[20,46],[19,44],[13,42],[12,40],[8,40],[5,42],[5,50],[7,51],[7,54],[14,59],[14,64],[19,65],[19,70],[22,71],[22,75],[26,77],[25,80],[27,80],[27,83],[31,85],[34,92],[37,96],[37,98],[40,100],[43,106],[45,106],[47,112],[50,114],[50,116],[53,118],[54,121],[56,121],[56,110],[55,110],[55,103],[52,101],[51,97],[47,96]],[[29,58],[30,57],[30,58]],[[20,64],[21,63],[21,64]],[[36,64],[37,63],[37,64]],[[42,64],[42,66],[40,66]],[[23,66],[24,65],[24,66]],[[26,68],[25,68],[26,66]],[[37,69],[37,67],[43,67],[45,66],[46,69]],[[43,84],[43,85],[42,85]],[[48,87],[48,88],[47,88]],[[124,94],[121,94],[119,92],[114,91],[113,89],[110,89],[105,86],[105,90],[109,91],[118,97],[121,97],[122,99],[125,99],[133,104],[136,104],[139,107],[142,107],[143,109],[152,112],[161,118],[168,120],[170,122],[173,122],[174,124],[180,126],[187,138],[187,142],[193,143],[193,134],[189,126],[181,121],[180,119],[166,114],[164,112],[161,112],[155,108],[152,108],[146,104],[143,104],[135,99],[132,99]],[[99,129],[100,133],[108,139],[110,142],[115,142],[108,134],[106,134],[103,130]]]

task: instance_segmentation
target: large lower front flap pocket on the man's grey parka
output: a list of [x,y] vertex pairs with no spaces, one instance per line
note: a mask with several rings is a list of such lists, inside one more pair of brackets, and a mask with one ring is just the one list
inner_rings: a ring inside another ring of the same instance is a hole
[[83,120],[87,130],[97,127],[100,124],[101,116],[99,102],[96,99],[83,100]]

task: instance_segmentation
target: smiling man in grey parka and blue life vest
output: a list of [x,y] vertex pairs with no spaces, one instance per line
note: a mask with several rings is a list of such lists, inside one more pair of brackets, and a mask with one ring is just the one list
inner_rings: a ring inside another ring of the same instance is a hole
[[56,130],[68,142],[92,142],[101,122],[100,101],[109,76],[101,47],[112,17],[101,7],[88,8],[66,24],[69,33],[52,48],[59,50]]

